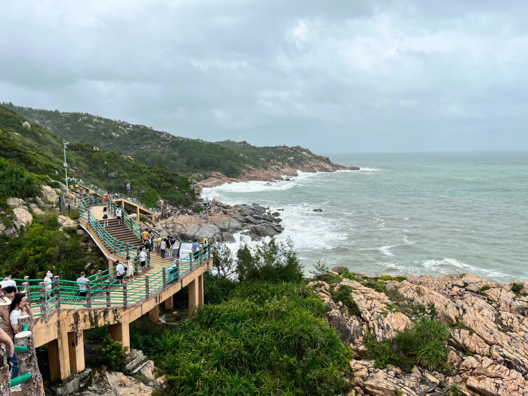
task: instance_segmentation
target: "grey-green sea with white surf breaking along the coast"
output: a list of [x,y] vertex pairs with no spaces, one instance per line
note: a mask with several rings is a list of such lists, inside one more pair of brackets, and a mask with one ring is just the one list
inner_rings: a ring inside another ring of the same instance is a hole
[[[282,209],[277,239],[293,241],[306,272],[320,260],[372,275],[528,279],[528,152],[329,157],[361,169],[224,184],[203,195]],[[240,243],[251,244],[242,237],[232,248]]]

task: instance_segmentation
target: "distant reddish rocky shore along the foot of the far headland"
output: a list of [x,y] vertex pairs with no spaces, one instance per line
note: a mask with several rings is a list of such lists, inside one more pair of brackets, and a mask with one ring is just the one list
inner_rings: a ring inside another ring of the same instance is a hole
[[298,172],[316,173],[316,172],[336,172],[336,171],[357,171],[357,166],[344,166],[334,164],[333,162],[326,163],[313,159],[304,165],[296,164],[282,164],[277,163],[267,169],[252,169],[245,171],[239,177],[227,177],[222,173],[213,172],[211,177],[198,182],[201,187],[216,187],[224,183],[235,183],[235,182],[273,182],[278,180],[284,180],[284,177],[295,177],[298,176]]

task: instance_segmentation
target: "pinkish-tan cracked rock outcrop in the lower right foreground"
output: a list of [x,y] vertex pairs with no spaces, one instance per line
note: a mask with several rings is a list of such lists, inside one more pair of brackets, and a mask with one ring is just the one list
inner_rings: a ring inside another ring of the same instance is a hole
[[[528,281],[505,284],[473,274],[370,277],[335,267],[308,286],[353,351],[353,394],[528,395]],[[423,316],[447,325],[445,369],[414,365],[406,372],[369,359],[368,334],[390,343]]]

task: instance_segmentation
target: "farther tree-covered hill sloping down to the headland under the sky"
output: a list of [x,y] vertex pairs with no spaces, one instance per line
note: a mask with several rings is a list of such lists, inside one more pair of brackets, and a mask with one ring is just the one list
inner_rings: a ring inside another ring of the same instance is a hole
[[255,147],[246,142],[210,143],[153,130],[144,125],[111,120],[80,112],[61,112],[2,103],[60,138],[90,143],[106,151],[132,156],[136,162],[159,166],[181,174],[207,178],[212,172],[237,177],[244,171],[267,169],[270,165],[300,166],[314,160],[332,164],[326,157],[296,146]]

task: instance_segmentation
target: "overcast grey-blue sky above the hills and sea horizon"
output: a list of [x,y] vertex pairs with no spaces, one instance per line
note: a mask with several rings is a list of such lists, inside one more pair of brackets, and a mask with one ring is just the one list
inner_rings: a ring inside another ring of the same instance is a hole
[[316,153],[528,149],[526,1],[5,1],[0,101]]

